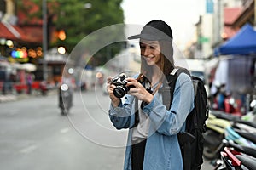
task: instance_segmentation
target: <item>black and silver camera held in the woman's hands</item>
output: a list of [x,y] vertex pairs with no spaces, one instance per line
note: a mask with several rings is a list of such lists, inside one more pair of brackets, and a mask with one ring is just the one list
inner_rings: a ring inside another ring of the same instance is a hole
[[111,83],[113,83],[116,88],[113,89],[113,95],[117,98],[122,98],[127,94],[127,92],[130,90],[130,88],[135,88],[134,86],[126,86],[127,76],[125,73],[119,74],[117,77],[113,77],[111,80]]

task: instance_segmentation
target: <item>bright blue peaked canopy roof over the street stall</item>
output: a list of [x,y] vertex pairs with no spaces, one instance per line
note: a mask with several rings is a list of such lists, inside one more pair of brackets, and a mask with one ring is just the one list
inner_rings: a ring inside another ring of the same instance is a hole
[[249,24],[241,27],[241,30],[224,42],[220,47],[214,49],[215,55],[228,54],[256,54],[256,31]]

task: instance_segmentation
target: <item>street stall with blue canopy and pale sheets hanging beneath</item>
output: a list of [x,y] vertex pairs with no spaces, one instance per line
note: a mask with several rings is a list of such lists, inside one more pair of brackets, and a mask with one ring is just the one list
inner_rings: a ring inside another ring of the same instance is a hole
[[[226,93],[247,108],[255,94],[256,83],[256,31],[253,26],[246,24],[241,27],[234,37],[215,48],[215,55],[220,58],[220,63],[213,84],[224,84]],[[216,87],[212,86],[211,91],[214,94]]]

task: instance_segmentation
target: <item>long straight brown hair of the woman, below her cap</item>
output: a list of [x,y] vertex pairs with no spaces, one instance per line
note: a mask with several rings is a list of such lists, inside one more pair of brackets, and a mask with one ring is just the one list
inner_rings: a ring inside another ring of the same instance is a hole
[[[170,72],[174,68],[174,59],[173,59],[173,47],[172,42],[160,40],[160,71],[162,72],[162,77],[160,80],[162,81],[166,75],[170,74]],[[153,74],[152,66],[147,65],[146,60],[141,57],[141,74],[148,78],[148,81],[151,82],[151,77]]]

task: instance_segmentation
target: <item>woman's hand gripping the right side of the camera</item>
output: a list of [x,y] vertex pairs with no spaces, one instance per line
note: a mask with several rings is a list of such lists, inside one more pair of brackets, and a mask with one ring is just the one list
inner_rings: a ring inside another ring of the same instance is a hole
[[154,96],[150,94],[140,82],[137,82],[135,78],[128,77],[126,78],[126,80],[128,81],[126,86],[135,87],[135,88],[130,88],[128,94],[131,94],[137,97],[137,99],[143,100],[146,103],[150,103],[153,100]]

